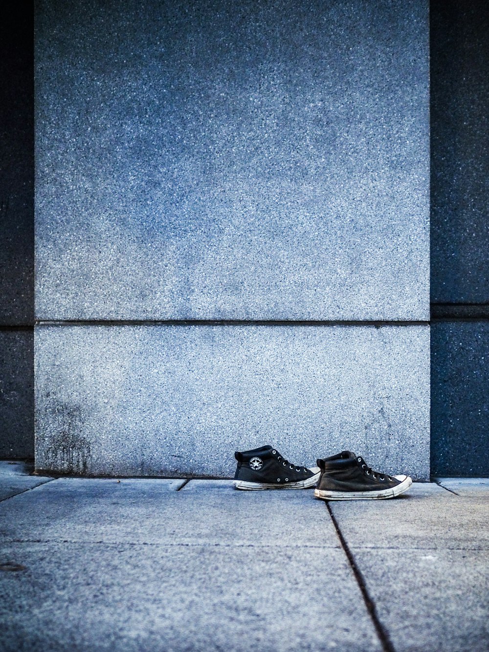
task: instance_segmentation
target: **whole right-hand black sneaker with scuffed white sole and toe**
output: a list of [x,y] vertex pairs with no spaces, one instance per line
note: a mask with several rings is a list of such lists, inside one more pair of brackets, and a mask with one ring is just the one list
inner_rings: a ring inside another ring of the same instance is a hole
[[393,498],[413,484],[408,475],[372,471],[363,457],[351,451],[318,460],[318,466],[321,473],[314,496],[323,500]]

